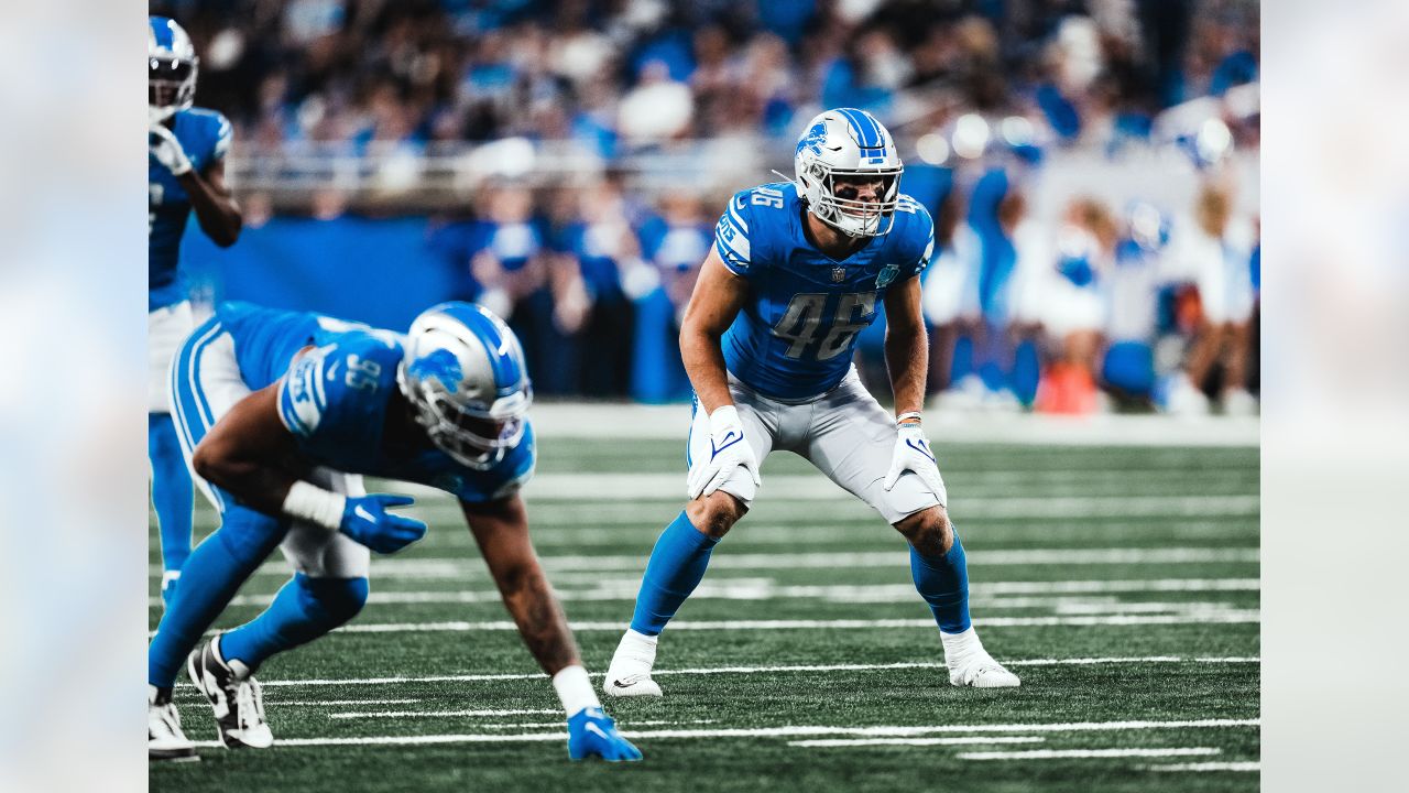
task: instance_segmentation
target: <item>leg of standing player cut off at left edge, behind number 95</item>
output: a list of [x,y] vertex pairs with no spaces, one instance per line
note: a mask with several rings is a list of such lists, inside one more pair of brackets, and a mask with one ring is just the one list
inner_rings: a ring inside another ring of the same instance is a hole
[[152,463],[152,505],[161,528],[162,600],[166,603],[176,593],[180,567],[190,556],[193,488],[172,422],[168,371],[176,347],[190,334],[192,325],[190,303],[185,301],[147,315],[147,456]]

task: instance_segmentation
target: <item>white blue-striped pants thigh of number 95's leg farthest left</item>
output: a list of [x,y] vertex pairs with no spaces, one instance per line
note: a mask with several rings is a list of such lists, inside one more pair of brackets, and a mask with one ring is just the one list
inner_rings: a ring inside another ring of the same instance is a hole
[[230,408],[251,394],[240,374],[234,340],[216,319],[197,327],[172,358],[169,371],[172,420],[186,467],[196,485],[217,508],[224,509],[228,494],[200,478],[192,466],[196,446]]

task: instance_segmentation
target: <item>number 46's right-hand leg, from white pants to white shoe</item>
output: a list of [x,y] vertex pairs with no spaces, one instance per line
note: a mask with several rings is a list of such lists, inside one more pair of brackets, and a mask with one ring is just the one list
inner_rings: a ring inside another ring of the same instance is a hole
[[969,622],[964,545],[936,492],[916,473],[886,488],[896,443],[895,419],[861,385],[855,370],[817,402],[805,456],[847,491],[869,504],[910,543],[910,574],[940,626],[944,660],[954,686],[1017,686],[979,642]]

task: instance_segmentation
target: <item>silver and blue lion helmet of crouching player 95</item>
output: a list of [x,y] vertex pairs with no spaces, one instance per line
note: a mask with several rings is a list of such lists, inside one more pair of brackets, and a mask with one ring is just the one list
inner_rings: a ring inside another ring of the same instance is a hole
[[523,439],[533,402],[523,347],[482,306],[448,302],[417,316],[396,384],[431,443],[465,466],[492,467]]

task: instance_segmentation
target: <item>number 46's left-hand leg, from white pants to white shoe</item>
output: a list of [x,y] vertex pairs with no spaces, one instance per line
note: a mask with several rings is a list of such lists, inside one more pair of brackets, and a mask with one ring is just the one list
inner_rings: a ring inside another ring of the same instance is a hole
[[[772,450],[778,416],[771,413],[766,402],[748,391],[737,385],[731,385],[730,391],[744,429],[744,442],[752,447],[754,459],[762,461]],[[710,419],[696,406],[686,444],[686,464],[695,470],[723,449],[716,449],[712,440]],[[757,490],[754,476],[735,468],[719,490],[692,500],[665,526],[645,563],[631,626],[612,656],[603,691],[616,697],[661,696],[661,687],[651,679],[658,636],[704,577],[714,545],[748,512]]]

